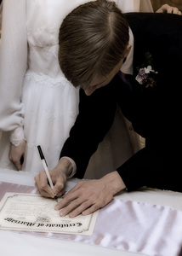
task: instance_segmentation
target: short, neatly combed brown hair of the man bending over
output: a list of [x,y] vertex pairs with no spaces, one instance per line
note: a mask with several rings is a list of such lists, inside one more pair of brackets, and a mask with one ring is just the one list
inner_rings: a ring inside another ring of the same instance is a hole
[[66,79],[85,87],[106,76],[128,45],[128,22],[115,2],[84,3],[65,17],[59,34],[59,62]]

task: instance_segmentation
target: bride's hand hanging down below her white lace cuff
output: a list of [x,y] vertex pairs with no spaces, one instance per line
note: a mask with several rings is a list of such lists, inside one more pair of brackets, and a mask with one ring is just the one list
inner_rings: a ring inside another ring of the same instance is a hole
[[18,171],[22,170],[25,151],[26,151],[26,141],[23,141],[17,147],[14,146],[12,143],[10,144],[9,160],[11,160],[14,163],[14,166]]

